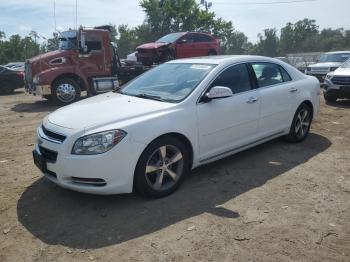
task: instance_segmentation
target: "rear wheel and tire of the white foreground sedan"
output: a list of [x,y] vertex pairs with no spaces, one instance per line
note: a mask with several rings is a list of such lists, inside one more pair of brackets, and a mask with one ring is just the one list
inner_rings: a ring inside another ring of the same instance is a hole
[[312,109],[310,106],[303,103],[295,112],[289,134],[285,136],[286,140],[291,143],[303,141],[310,131],[311,122]]

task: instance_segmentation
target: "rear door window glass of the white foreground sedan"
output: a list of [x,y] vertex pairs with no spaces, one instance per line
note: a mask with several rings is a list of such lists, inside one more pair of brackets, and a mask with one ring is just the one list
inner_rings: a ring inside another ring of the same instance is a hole
[[271,63],[252,63],[259,87],[283,83],[279,66]]

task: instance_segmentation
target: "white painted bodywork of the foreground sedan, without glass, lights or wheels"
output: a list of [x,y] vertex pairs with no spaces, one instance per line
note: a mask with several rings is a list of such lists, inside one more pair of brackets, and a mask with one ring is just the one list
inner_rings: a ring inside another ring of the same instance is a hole
[[[253,89],[232,97],[199,102],[209,84],[225,68],[246,62],[271,62],[281,65],[292,81]],[[42,125],[67,138],[58,144],[50,141],[39,126],[40,146],[58,152],[55,163],[47,168],[56,178],[45,174],[56,184],[72,190],[94,194],[129,193],[133,175],[143,150],[154,139],[168,133],[179,133],[191,143],[192,168],[232,153],[288,134],[298,106],[305,100],[319,109],[319,83],[277,59],[259,56],[215,56],[174,60],[168,63],[200,63],[217,66],[195,90],[179,103],[107,93],[63,107],[44,120]],[[296,91],[291,91],[296,89]],[[249,103],[249,100],[256,101]],[[88,134],[122,129],[126,137],[110,151],[99,155],[72,155],[75,141]],[[39,145],[36,145],[36,150]],[[76,184],[72,177],[102,178],[106,186]]]

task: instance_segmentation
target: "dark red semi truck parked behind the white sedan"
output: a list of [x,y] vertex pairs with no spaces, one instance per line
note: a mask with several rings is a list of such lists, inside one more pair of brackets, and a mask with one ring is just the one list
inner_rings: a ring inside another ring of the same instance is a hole
[[150,67],[121,62],[111,27],[80,27],[60,33],[58,50],[25,62],[25,89],[56,104],[115,90]]

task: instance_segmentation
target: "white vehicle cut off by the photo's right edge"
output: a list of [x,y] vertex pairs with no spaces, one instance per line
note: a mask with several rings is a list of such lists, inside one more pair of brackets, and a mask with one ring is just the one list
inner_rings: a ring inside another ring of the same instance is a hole
[[327,102],[335,102],[338,98],[350,98],[350,59],[334,72],[328,73],[322,87]]

